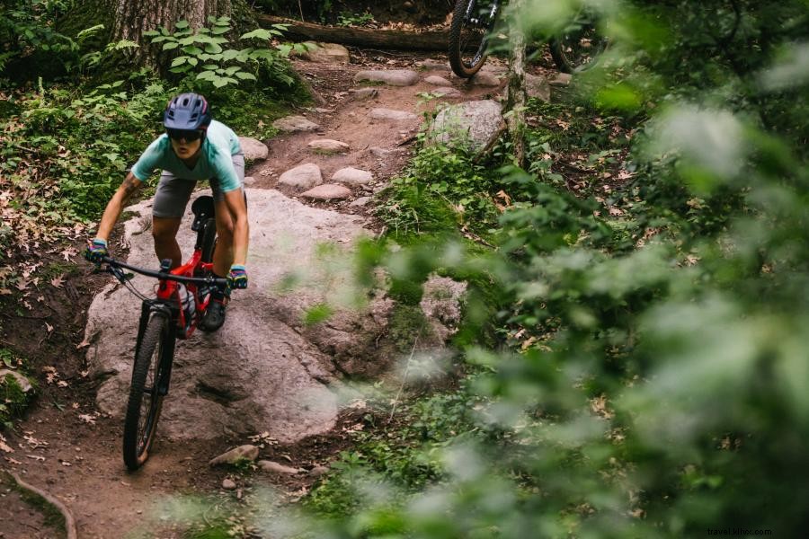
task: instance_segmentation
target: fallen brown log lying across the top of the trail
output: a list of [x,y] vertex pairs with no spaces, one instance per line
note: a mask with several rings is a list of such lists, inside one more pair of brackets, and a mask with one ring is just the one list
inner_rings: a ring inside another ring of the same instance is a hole
[[446,51],[449,46],[449,30],[369,30],[322,26],[312,22],[300,22],[266,14],[258,14],[257,19],[259,24],[265,28],[272,24],[288,25],[284,36],[297,41],[324,41],[366,49],[440,50],[442,52]]

